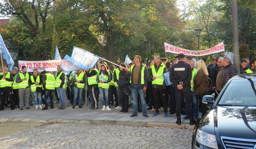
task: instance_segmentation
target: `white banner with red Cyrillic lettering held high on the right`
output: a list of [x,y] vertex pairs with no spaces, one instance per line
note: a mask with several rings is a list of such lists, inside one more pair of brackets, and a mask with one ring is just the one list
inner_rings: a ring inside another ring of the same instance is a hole
[[205,56],[205,55],[210,55],[210,54],[214,54],[214,53],[225,52],[223,42],[215,45],[212,48],[200,50],[200,51],[192,51],[189,49],[179,48],[179,47],[175,47],[174,45],[171,45],[168,43],[164,43],[164,49],[166,49],[166,52],[170,52],[170,53],[174,53],[174,54],[183,53],[184,55],[189,55],[189,56]]

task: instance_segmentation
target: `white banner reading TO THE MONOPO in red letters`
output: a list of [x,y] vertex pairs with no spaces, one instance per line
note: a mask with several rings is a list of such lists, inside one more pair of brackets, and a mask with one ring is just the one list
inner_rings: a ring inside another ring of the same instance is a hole
[[24,61],[19,60],[19,70],[22,69],[22,66],[27,67],[27,72],[33,72],[34,69],[38,69],[39,72],[57,71],[57,66],[60,65],[61,60],[43,60],[43,61]]

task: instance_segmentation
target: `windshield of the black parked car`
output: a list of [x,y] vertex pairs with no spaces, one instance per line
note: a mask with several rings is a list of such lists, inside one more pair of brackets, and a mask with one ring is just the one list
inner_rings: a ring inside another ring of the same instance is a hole
[[256,106],[256,78],[234,79],[225,89],[219,106]]

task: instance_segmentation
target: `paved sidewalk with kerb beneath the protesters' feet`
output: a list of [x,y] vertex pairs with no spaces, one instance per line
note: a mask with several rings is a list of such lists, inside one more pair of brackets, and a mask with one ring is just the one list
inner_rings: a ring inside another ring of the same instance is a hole
[[6,108],[0,111],[0,122],[42,122],[42,123],[88,123],[92,125],[126,125],[126,126],[147,126],[147,127],[175,127],[180,129],[193,129],[189,126],[189,120],[183,120],[181,116],[181,125],[176,125],[176,115],[164,117],[160,113],[158,117],[152,117],[153,113],[147,110],[148,118],[143,117],[142,113],[138,113],[137,117],[130,117],[132,109],[128,113],[121,113],[119,110],[102,111],[101,109],[90,110],[89,107],[82,109],[68,106],[67,109],[59,110],[55,106],[54,109],[35,110],[31,106],[31,110],[13,111]]

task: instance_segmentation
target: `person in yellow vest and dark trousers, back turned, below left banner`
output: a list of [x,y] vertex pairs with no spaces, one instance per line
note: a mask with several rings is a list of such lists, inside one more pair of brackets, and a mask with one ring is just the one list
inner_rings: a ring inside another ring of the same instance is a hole
[[43,71],[42,75],[42,82],[43,82],[43,89],[44,89],[44,108],[42,110],[48,109],[48,98],[51,102],[51,109],[53,109],[53,92],[55,90],[55,77],[51,72]]

